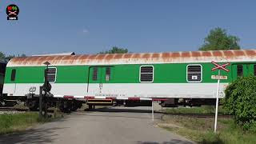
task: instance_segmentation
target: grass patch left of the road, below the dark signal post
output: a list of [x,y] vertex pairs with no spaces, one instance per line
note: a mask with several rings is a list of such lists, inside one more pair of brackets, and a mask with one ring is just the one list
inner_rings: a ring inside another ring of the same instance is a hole
[[30,126],[35,126],[43,122],[51,122],[54,118],[62,118],[63,114],[54,113],[51,118],[41,120],[38,112],[26,112],[21,114],[0,114],[0,134],[9,134],[26,130]]

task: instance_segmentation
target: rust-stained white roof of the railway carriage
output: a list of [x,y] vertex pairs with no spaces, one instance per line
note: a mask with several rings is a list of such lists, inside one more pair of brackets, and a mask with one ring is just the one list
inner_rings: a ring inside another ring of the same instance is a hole
[[166,53],[82,54],[12,58],[7,66],[115,65],[196,62],[255,62],[256,50],[212,50]]

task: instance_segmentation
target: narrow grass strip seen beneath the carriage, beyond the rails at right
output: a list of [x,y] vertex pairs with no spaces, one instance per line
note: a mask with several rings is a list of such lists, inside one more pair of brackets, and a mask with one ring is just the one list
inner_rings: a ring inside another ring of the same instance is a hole
[[[174,107],[167,108],[164,112],[172,114],[215,114],[215,106]],[[228,114],[228,112],[222,106],[218,106],[218,114]]]

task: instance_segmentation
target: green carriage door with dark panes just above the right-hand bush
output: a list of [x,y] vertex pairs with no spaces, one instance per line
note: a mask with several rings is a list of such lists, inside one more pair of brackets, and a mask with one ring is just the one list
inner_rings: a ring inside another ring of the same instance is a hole
[[232,65],[232,78],[233,81],[238,77],[256,74],[256,63],[242,63]]

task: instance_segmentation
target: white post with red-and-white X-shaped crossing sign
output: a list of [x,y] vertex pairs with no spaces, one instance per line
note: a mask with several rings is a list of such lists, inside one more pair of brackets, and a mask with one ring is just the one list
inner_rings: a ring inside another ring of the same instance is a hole
[[212,75],[213,79],[218,79],[218,84],[217,84],[217,94],[216,94],[216,110],[215,110],[215,122],[214,122],[214,133],[216,133],[217,131],[217,119],[218,119],[218,94],[219,94],[219,82],[221,79],[226,79],[226,76],[222,76],[221,75],[221,70],[225,70],[226,72],[230,72],[230,70],[226,69],[226,66],[230,65],[230,62],[225,63],[225,64],[218,64],[217,62],[211,62],[212,64],[214,64],[214,68],[212,68],[211,70],[218,70],[218,76],[214,76]]

